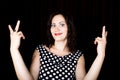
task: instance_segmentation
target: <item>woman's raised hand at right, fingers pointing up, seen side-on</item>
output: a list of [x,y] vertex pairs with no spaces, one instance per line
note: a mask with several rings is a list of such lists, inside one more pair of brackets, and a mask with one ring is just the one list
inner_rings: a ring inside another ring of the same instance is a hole
[[106,31],[105,26],[103,26],[102,37],[95,38],[94,44],[97,44],[97,53],[100,55],[105,55],[107,34],[108,32]]

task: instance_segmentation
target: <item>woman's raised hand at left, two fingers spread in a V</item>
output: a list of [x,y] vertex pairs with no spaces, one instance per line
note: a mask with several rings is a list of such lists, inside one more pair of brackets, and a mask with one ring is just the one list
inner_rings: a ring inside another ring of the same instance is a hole
[[18,49],[20,46],[20,40],[21,38],[25,39],[25,36],[23,35],[23,33],[19,30],[19,25],[20,25],[20,20],[17,21],[16,27],[13,30],[11,25],[8,25],[9,31],[10,31],[10,40],[11,40],[11,44],[10,44],[10,48],[12,49]]

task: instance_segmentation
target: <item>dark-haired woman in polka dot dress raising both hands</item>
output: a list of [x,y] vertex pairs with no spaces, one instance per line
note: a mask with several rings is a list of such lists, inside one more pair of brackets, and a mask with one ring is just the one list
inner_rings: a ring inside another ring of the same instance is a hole
[[85,59],[82,51],[76,48],[75,26],[70,16],[64,13],[53,13],[48,20],[48,40],[46,44],[36,47],[30,71],[27,69],[19,51],[20,39],[25,39],[18,31],[18,20],[15,30],[10,30],[10,52],[14,68],[20,80],[97,80],[100,73],[107,43],[107,31],[102,29],[102,37],[95,38],[97,56],[86,73]]

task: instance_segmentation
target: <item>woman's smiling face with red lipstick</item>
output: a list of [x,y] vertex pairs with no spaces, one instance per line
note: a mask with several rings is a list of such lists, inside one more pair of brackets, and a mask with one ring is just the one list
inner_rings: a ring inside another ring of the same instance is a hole
[[59,14],[53,17],[50,31],[55,41],[67,39],[68,27],[62,15]]

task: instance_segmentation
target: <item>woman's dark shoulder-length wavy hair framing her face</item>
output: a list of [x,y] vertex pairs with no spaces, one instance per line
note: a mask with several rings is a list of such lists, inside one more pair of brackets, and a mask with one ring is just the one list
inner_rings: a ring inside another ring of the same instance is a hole
[[54,12],[48,18],[46,46],[50,48],[54,44],[55,40],[52,37],[50,28],[51,28],[51,22],[52,22],[53,17],[58,14],[61,14],[64,17],[67,23],[67,26],[68,26],[67,47],[70,52],[75,52],[77,50],[76,49],[76,29],[75,29],[73,17],[70,14],[65,13],[63,11]]

